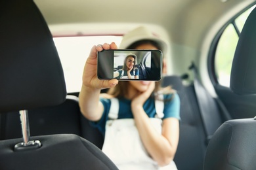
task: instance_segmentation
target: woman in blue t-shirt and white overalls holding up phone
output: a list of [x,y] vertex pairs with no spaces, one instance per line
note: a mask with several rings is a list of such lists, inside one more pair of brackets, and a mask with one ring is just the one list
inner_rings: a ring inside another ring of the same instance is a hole
[[[152,39],[141,42],[133,48],[159,49]],[[82,114],[105,135],[102,150],[119,169],[177,169],[179,95],[159,82],[98,80],[97,52],[116,48],[114,42],[93,46],[79,94]],[[103,88],[110,91],[100,95]]]

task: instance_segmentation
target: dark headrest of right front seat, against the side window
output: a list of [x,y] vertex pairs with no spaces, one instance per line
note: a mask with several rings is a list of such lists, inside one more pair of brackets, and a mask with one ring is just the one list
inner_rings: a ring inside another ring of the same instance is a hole
[[232,63],[230,88],[238,94],[256,93],[256,9],[247,18]]

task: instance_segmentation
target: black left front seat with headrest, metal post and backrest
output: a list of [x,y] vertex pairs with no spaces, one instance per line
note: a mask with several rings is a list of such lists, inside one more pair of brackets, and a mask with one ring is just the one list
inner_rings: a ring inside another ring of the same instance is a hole
[[23,133],[23,139],[0,141],[0,169],[117,169],[78,135],[30,137],[27,110],[66,99],[62,66],[32,0],[0,1],[0,23],[0,112],[20,110]]

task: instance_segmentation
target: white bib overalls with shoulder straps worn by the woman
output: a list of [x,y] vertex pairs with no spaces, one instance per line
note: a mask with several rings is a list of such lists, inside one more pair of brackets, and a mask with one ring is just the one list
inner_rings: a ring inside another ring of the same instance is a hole
[[[163,118],[163,101],[156,100],[156,118],[150,118],[153,126],[161,133],[161,123]],[[120,108],[121,109],[121,108]],[[174,161],[165,167],[159,167],[156,161],[152,160],[135,126],[133,118],[117,119],[119,112],[119,101],[111,99],[109,120],[106,122],[106,133],[102,151],[121,170],[141,170],[141,169],[177,169]]]

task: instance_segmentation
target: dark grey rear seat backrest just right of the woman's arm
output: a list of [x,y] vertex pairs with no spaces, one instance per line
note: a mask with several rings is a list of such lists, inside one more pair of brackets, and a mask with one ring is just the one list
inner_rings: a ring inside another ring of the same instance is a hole
[[180,137],[174,158],[177,168],[202,169],[206,143],[194,87],[184,86],[180,76],[164,76],[162,86],[171,86],[181,99]]

